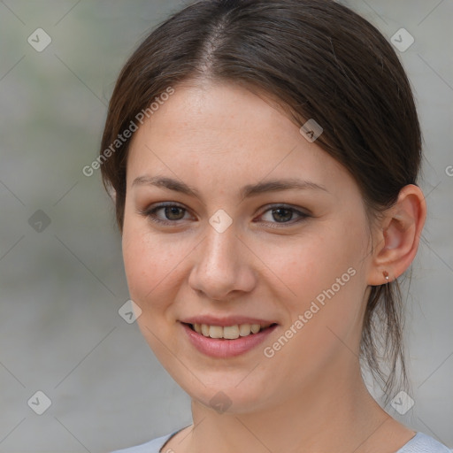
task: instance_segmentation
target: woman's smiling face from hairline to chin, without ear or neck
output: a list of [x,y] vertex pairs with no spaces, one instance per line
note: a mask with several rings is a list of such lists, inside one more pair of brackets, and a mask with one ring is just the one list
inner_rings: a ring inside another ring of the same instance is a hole
[[369,241],[345,168],[245,88],[179,86],[134,135],[130,296],[159,361],[206,406],[251,411],[357,378]]

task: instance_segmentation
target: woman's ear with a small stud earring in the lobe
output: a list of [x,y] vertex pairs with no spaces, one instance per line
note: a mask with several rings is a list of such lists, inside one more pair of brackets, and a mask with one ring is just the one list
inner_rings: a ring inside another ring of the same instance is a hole
[[426,201],[420,188],[404,186],[396,203],[384,212],[373,234],[374,250],[368,284],[382,285],[395,280],[411,265],[417,254],[426,220]]

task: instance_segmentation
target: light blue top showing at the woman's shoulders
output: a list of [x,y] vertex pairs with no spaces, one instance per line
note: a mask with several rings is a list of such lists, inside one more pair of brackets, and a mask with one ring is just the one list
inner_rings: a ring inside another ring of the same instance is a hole
[[[163,447],[174,434],[179,433],[182,429],[184,428],[181,428],[172,434],[166,434],[162,437],[157,437],[152,441],[142,443],[142,445],[137,445],[136,447],[131,447],[129,449],[119,449],[112,453],[172,453],[173,450],[168,449],[167,452]],[[436,441],[429,435],[418,432],[395,453],[453,453],[453,449],[447,448],[443,443]]]

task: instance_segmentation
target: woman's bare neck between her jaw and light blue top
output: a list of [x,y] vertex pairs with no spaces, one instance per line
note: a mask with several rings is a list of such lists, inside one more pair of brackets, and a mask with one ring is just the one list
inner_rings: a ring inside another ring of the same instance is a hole
[[259,410],[234,413],[219,413],[193,401],[194,427],[184,450],[368,453],[374,444],[382,447],[388,429],[395,428],[395,420],[368,393],[358,363],[349,366],[349,372],[325,370],[297,395],[288,397],[282,389],[276,400]]

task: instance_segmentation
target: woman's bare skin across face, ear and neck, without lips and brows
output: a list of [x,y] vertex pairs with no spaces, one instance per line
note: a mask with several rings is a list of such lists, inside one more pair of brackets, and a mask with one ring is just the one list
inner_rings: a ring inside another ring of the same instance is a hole
[[[133,184],[142,176],[182,181],[198,196]],[[289,178],[325,190],[240,195],[246,185]],[[186,211],[170,220],[157,211],[168,225],[141,213],[162,202]],[[308,217],[273,213],[271,203]],[[233,219],[223,233],[209,223],[219,209]],[[385,283],[384,271],[394,280],[411,264],[425,217],[420,189],[406,186],[371,227],[347,170],[264,96],[206,81],[176,87],[134,134],[122,232],[130,295],[142,310],[137,322],[192,400],[194,425],[162,451],[391,453],[409,441],[415,433],[369,395],[357,357],[370,286]],[[265,357],[265,346],[349,268],[355,275]],[[198,314],[256,316],[279,326],[242,356],[212,358],[188,342],[180,324]],[[224,413],[210,404],[219,391],[231,400]]]

